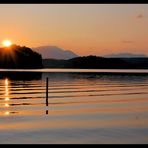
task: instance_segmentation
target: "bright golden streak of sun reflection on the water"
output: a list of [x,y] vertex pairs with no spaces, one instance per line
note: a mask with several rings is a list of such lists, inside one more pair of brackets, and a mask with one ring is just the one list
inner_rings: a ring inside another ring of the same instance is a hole
[[[10,98],[9,98],[9,80],[6,78],[5,79],[5,101],[6,101],[6,103],[5,103],[5,107],[9,107],[9,103],[8,103],[8,101],[10,100]],[[5,112],[5,115],[9,115],[9,111],[6,111]]]

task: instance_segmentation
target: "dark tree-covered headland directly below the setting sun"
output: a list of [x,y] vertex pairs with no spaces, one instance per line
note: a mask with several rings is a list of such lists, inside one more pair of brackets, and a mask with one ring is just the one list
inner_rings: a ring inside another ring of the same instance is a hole
[[43,68],[42,56],[26,46],[11,45],[0,48],[0,68],[36,69]]

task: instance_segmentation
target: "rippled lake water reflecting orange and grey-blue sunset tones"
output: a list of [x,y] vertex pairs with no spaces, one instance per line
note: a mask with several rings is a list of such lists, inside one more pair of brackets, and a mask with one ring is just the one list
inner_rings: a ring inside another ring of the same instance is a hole
[[148,74],[3,71],[0,143],[148,143]]

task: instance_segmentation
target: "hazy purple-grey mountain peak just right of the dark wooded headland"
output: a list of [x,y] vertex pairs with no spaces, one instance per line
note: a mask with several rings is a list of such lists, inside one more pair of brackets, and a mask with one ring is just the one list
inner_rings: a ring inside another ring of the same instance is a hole
[[56,46],[40,46],[33,48],[36,52],[42,55],[43,59],[71,59],[78,57],[74,52],[70,50],[64,50]]

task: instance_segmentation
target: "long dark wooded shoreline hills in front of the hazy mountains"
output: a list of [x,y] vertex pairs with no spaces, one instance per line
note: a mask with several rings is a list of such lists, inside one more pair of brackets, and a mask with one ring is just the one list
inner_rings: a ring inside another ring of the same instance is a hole
[[148,58],[76,57],[69,60],[43,59],[44,68],[148,69]]

